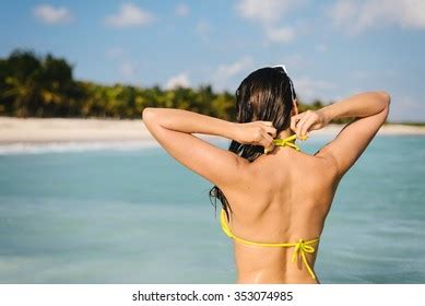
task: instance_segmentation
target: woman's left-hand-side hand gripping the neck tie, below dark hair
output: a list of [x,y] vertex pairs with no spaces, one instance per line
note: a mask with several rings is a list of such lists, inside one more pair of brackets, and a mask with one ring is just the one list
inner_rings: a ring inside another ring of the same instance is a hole
[[275,137],[276,129],[271,121],[235,123],[234,140],[243,144],[269,148]]

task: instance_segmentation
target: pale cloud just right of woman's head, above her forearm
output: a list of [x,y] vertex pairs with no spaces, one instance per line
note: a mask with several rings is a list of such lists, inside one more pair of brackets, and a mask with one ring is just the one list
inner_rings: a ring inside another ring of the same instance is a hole
[[330,98],[331,91],[337,86],[323,80],[314,80],[309,76],[294,78],[294,87],[297,96],[303,102],[310,102],[314,98]]

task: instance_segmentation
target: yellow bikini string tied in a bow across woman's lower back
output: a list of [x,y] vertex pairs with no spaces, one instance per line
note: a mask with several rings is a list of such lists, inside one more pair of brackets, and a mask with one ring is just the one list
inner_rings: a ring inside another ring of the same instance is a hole
[[302,260],[304,262],[304,266],[306,266],[306,268],[308,270],[308,273],[311,275],[311,278],[314,280],[316,279],[315,272],[312,272],[312,269],[310,268],[310,264],[308,263],[306,252],[308,252],[308,254],[315,252],[316,249],[310,245],[319,242],[320,238],[316,238],[316,239],[308,240],[308,242],[299,239],[297,243],[283,243],[283,244],[255,243],[255,242],[249,242],[249,240],[245,240],[243,238],[236,237],[234,234],[232,234],[232,232],[228,228],[228,225],[226,223],[226,215],[225,215],[225,211],[223,209],[222,209],[221,214],[220,214],[220,222],[221,222],[223,232],[226,233],[226,235],[228,237],[234,238],[235,240],[238,240],[243,244],[251,245],[251,246],[260,246],[260,247],[294,247],[294,252],[292,254],[291,262],[295,262],[295,260],[297,258],[299,258],[299,256],[300,256]]

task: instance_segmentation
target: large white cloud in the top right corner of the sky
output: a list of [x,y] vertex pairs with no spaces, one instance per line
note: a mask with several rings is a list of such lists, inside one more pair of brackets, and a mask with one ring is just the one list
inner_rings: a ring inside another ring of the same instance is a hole
[[385,25],[425,28],[425,1],[339,0],[331,8],[330,16],[335,26],[350,34]]

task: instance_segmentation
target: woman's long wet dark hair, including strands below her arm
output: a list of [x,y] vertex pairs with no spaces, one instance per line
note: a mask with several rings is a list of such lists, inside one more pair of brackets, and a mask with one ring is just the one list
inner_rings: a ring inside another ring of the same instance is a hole
[[[293,82],[283,68],[258,69],[245,78],[236,91],[236,121],[239,123],[258,120],[272,121],[279,134],[291,125],[291,110],[295,98]],[[233,140],[228,151],[252,163],[263,154],[264,148],[241,144]],[[210,201],[215,207],[215,211],[217,199],[222,202],[227,220],[229,220],[231,204],[222,190],[214,186],[210,190]]]

